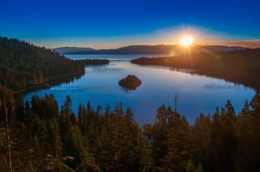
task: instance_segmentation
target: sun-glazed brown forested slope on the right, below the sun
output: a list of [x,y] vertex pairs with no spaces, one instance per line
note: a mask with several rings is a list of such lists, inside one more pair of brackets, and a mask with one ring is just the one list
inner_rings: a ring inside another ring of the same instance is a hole
[[131,63],[200,70],[205,76],[222,78],[260,90],[260,48],[241,51],[189,53],[175,57],[133,59]]

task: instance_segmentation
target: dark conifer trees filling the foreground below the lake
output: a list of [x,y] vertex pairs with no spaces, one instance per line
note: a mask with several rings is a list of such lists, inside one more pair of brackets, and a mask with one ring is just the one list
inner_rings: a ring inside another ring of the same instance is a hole
[[231,102],[189,124],[160,106],[154,124],[142,128],[131,109],[118,104],[59,111],[53,95],[30,102],[1,87],[0,171],[8,171],[3,102],[10,119],[14,171],[259,171],[260,94],[235,114]]

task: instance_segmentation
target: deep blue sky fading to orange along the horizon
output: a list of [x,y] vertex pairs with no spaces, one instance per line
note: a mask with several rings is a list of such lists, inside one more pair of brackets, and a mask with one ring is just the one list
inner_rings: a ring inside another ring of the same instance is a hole
[[0,36],[39,46],[260,45],[260,1],[0,0]]

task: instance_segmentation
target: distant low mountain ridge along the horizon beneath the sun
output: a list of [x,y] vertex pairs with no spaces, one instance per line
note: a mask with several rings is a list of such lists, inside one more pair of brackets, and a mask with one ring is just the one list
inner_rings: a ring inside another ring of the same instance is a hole
[[[187,48],[179,45],[131,45],[123,46],[115,49],[93,49],[83,47],[60,47],[54,48],[60,54],[67,55],[174,55],[187,52]],[[203,51],[241,51],[246,48],[242,46],[200,46],[194,45],[190,47],[192,52]]]

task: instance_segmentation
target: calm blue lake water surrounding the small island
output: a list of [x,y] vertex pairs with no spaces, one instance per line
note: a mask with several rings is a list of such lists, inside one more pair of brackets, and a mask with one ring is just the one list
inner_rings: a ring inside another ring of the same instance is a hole
[[[200,113],[213,113],[216,106],[224,106],[227,100],[236,112],[242,109],[245,100],[255,95],[255,90],[235,85],[218,78],[190,74],[188,70],[176,71],[169,67],[138,66],[130,59],[138,57],[161,57],[166,55],[66,55],[71,59],[109,59],[109,65],[86,66],[86,73],[71,83],[63,83],[49,89],[41,89],[25,95],[54,94],[61,106],[67,95],[73,100],[73,111],[77,114],[79,103],[90,104],[96,108],[109,104],[112,109],[122,102],[124,108],[130,107],[140,124],[152,123],[157,108],[161,104],[174,106],[177,94],[177,111],[193,123]],[[126,91],[118,85],[121,78],[135,74],[142,85],[135,91]]]

